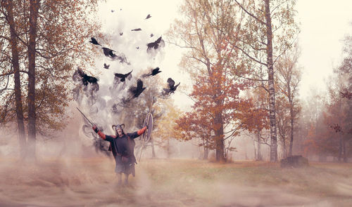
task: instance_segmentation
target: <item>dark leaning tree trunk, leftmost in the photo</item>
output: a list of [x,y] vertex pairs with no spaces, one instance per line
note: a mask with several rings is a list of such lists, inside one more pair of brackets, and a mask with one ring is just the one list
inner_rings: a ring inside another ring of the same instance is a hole
[[27,151],[27,141],[25,138],[25,123],[23,121],[23,102],[21,95],[21,84],[20,84],[20,64],[18,55],[18,43],[15,32],[15,21],[13,19],[13,1],[1,1],[1,6],[6,8],[8,14],[8,25],[10,25],[11,35],[11,63],[13,65],[14,82],[15,82],[15,106],[17,116],[17,127],[18,127],[18,142],[20,145],[20,158],[25,159]]

